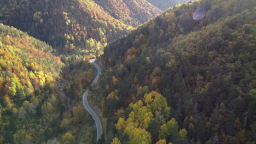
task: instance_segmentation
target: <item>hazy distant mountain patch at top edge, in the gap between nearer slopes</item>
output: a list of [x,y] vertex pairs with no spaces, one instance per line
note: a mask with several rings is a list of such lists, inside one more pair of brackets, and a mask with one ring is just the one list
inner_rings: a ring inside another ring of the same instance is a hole
[[194,1],[194,0],[147,0],[147,1],[149,3],[152,3],[153,5],[155,5],[155,7],[158,7],[161,10],[166,10],[175,5],[187,3],[188,1]]

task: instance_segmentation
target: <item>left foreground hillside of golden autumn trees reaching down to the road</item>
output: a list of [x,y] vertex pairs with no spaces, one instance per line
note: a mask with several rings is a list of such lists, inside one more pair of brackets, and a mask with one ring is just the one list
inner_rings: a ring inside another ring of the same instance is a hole
[[[89,113],[82,103],[69,104],[57,85],[61,69],[69,79],[77,77],[69,86],[77,97],[92,80],[92,69],[86,63],[80,67],[77,59],[66,59],[72,63],[64,65],[48,44],[0,24],[0,143],[95,141]],[[73,71],[80,73],[72,75]]]

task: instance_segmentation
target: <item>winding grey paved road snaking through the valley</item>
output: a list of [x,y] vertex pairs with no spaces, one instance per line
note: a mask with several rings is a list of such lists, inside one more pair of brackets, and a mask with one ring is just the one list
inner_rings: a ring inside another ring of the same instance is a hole
[[[101,75],[101,68],[98,67],[98,65],[95,63],[95,60],[96,59],[91,59],[90,60],[90,63],[92,63],[96,67],[96,69],[98,71],[94,81],[91,83],[91,86],[95,85],[95,83],[98,81],[98,78],[100,78],[100,75]],[[94,110],[92,110],[90,105],[88,104],[88,92],[89,92],[89,90],[87,89],[87,91],[83,95],[83,104],[84,104],[85,109],[92,116],[92,118],[94,118],[94,121],[95,121],[95,124],[96,124],[96,128],[97,128],[97,140],[98,140],[98,139],[100,139],[100,137],[102,135],[102,125],[101,125],[100,118],[98,118],[98,116],[96,115]]]

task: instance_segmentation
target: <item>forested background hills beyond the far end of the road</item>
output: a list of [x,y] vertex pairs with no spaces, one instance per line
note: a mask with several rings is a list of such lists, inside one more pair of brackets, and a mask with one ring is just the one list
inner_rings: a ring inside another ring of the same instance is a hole
[[144,0],[3,0],[0,6],[0,22],[5,25],[26,31],[59,52],[80,49],[94,55],[101,55],[106,43],[127,34],[132,26],[161,12]]

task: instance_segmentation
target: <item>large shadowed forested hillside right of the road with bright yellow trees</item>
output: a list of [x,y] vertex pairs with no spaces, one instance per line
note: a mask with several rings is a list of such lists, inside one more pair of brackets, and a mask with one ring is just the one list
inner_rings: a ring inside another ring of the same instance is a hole
[[98,143],[255,143],[256,1],[166,10],[104,49]]

